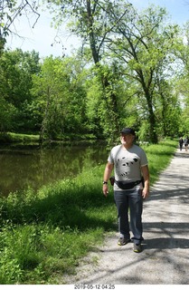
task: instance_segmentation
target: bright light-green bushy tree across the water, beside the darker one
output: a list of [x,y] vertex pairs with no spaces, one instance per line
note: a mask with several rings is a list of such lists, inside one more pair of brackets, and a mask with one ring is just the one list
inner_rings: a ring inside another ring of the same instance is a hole
[[41,73],[33,75],[31,110],[41,123],[42,141],[84,132],[85,91],[79,74],[75,59],[51,56],[44,59]]

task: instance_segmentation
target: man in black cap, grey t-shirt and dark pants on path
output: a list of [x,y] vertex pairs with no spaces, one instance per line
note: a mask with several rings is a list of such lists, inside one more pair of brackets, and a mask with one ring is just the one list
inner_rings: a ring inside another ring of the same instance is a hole
[[[114,198],[118,209],[118,245],[134,243],[136,253],[142,251],[141,242],[144,240],[142,227],[143,199],[149,194],[149,171],[146,153],[134,144],[136,133],[132,128],[124,128],[120,132],[121,144],[112,148],[104,171],[103,194],[108,196],[108,181],[112,169],[115,173]],[[142,180],[143,179],[143,180]],[[144,186],[143,186],[144,185]],[[128,221],[133,237],[130,239]]]

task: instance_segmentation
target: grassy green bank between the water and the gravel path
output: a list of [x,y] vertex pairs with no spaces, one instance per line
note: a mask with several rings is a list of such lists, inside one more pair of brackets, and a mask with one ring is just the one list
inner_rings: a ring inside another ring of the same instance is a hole
[[[176,143],[145,148],[151,184],[172,159]],[[117,230],[113,191],[102,195],[104,168],[1,198],[0,284],[62,284],[62,274],[73,273],[80,257]]]

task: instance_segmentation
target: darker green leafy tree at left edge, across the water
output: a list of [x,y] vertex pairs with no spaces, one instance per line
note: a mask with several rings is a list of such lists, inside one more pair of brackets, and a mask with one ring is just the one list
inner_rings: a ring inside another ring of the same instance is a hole
[[[31,116],[27,106],[32,102],[30,90],[33,86],[32,75],[39,73],[39,54],[23,53],[22,50],[5,51],[0,58],[0,96],[12,109],[12,126],[14,131],[32,129]],[[14,108],[14,110],[13,110]],[[3,107],[0,110],[3,110]],[[8,111],[4,111],[5,120],[10,119]],[[2,117],[3,118],[3,117]],[[1,118],[1,121],[3,119]]]

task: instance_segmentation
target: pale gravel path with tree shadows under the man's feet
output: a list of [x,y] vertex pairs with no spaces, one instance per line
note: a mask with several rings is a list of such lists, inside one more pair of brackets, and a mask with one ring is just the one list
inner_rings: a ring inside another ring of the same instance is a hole
[[66,284],[189,285],[189,151],[177,150],[150,190],[143,225],[142,253],[132,243],[118,247],[113,233]]

